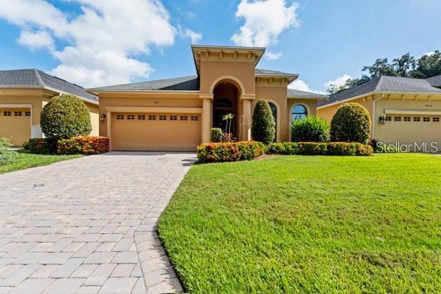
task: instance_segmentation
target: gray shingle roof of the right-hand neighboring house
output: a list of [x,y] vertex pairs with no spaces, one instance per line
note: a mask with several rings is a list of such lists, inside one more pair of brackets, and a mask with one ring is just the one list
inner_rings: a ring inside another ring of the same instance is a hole
[[369,92],[422,92],[440,93],[441,89],[433,87],[424,78],[402,78],[400,76],[378,76],[370,81],[350,87],[346,90],[332,94],[328,99],[320,101],[318,106],[346,100]]

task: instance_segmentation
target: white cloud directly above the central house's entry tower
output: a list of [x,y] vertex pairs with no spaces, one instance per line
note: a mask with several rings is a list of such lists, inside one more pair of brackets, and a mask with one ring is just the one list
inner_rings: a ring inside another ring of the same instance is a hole
[[277,43],[284,30],[299,25],[298,7],[298,3],[287,6],[285,0],[241,0],[235,15],[244,18],[245,24],[231,40],[242,46],[267,47]]

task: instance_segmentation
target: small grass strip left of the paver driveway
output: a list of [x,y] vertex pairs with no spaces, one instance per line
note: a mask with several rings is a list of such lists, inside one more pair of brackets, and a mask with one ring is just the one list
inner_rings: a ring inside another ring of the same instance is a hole
[[29,154],[25,151],[19,151],[19,156],[15,162],[8,165],[0,166],[0,174],[5,174],[10,171],[18,171],[19,169],[28,169],[29,167],[39,167],[41,165],[50,165],[51,163],[79,158],[82,155],[41,155]]

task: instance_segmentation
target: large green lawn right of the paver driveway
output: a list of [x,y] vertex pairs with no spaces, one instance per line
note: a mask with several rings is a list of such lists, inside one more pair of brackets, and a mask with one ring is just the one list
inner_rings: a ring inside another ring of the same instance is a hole
[[198,293],[440,293],[441,156],[195,165],[158,224]]

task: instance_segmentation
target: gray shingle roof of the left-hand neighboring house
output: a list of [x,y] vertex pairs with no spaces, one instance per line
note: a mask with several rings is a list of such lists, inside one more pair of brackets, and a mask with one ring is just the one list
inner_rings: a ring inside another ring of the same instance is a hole
[[0,70],[0,87],[13,86],[50,87],[56,91],[73,94],[88,101],[98,102],[99,100],[97,96],[85,92],[83,87],[41,72],[41,70]]

